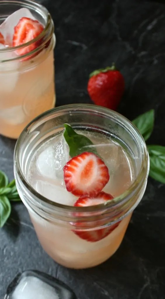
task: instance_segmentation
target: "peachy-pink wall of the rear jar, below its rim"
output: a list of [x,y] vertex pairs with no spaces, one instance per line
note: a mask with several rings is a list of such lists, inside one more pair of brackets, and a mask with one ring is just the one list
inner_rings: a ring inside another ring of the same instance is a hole
[[1,135],[18,138],[27,123],[55,105],[54,51],[39,55],[45,59],[33,68],[0,73]]

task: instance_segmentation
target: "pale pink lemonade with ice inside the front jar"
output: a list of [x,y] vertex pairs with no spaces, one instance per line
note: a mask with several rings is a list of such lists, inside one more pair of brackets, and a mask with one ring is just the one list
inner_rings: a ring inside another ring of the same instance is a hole
[[[122,147],[111,139],[96,133],[84,134],[93,142],[109,169],[110,180],[103,191],[114,197],[119,196],[134,180],[131,160]],[[48,199],[73,206],[78,197],[66,190],[63,179],[63,167],[69,159],[69,148],[63,134],[51,138],[37,150],[29,163],[29,184]],[[51,224],[30,212],[42,247],[58,263],[71,268],[92,267],[114,254],[123,239],[130,217],[128,215],[124,218],[105,238],[88,242],[71,229]]]

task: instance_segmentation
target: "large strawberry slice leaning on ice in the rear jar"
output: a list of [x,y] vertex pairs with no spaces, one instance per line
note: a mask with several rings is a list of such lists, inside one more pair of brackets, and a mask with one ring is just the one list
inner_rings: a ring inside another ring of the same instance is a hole
[[[38,21],[25,17],[21,18],[18,24],[14,27],[13,47],[30,42],[32,39],[36,38],[43,29],[44,27]],[[29,46],[16,50],[16,53],[22,56],[30,53],[38,46],[39,42],[34,42]]]

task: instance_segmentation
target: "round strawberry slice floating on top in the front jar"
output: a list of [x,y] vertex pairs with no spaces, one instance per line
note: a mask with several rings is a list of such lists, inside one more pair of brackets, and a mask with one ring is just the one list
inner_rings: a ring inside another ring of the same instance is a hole
[[64,166],[66,189],[75,196],[96,196],[109,181],[108,168],[91,152],[72,158]]

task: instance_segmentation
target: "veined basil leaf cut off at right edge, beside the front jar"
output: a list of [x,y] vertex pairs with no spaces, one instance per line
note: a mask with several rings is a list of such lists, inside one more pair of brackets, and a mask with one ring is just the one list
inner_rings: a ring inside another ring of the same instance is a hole
[[150,170],[149,175],[165,184],[165,147],[161,145],[148,145]]

